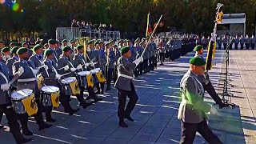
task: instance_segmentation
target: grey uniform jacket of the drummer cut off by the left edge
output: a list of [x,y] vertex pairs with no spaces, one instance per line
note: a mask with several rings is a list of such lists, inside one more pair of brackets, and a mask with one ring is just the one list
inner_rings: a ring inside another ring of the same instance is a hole
[[[0,86],[9,82],[9,70],[6,64],[0,62]],[[7,91],[0,89],[0,105],[10,104],[10,97],[7,94]]]

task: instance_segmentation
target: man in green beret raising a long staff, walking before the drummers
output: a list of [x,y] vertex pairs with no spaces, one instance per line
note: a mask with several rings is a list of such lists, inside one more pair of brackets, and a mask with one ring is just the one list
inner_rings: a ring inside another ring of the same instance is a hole
[[[130,47],[122,47],[120,50],[122,56],[118,58],[118,79],[114,84],[114,87],[118,89],[118,118],[119,126],[128,127],[124,118],[134,122],[134,119],[130,117],[131,111],[134,110],[134,106],[138,101],[138,95],[136,94],[133,84],[133,71],[140,62],[142,57],[136,59],[134,62],[129,62],[131,57]],[[126,106],[126,96],[130,98]]]

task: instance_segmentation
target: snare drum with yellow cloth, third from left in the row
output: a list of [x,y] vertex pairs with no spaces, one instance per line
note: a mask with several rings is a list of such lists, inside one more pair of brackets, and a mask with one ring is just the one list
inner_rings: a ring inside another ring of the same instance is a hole
[[78,81],[75,77],[64,78],[61,81],[66,95],[80,94]]

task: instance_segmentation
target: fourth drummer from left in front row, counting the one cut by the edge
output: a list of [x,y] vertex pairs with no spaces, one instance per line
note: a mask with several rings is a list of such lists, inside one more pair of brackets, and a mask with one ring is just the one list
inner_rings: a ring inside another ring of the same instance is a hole
[[[69,78],[69,77],[75,77],[75,71],[76,70],[81,70],[80,66],[79,67],[74,67],[71,60],[70,60],[70,53],[71,53],[71,48],[70,46],[65,46],[62,48],[63,54],[62,58],[58,59],[58,74],[66,74],[65,76],[62,76],[62,78]],[[78,98],[79,101],[79,106],[82,106],[84,109],[86,109],[87,106],[90,106],[89,103],[86,103],[85,99],[83,98],[83,94],[77,94],[75,95]],[[69,100],[70,98],[68,98]]]

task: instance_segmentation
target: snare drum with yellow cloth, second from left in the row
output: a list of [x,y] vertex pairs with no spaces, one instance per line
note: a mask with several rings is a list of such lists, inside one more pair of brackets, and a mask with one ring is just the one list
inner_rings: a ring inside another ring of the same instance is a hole
[[43,106],[59,106],[59,88],[56,86],[42,86],[41,98]]

